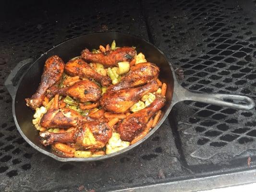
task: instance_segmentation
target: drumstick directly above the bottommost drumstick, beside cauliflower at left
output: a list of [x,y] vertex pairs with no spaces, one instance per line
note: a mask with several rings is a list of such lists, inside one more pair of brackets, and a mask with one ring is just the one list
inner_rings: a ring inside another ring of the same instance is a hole
[[68,129],[75,127],[79,121],[91,120],[70,108],[51,108],[41,118],[40,125],[45,128]]

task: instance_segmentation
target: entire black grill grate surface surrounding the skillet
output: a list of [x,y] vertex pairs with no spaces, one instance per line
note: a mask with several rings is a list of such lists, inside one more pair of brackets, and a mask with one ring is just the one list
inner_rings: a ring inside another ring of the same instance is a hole
[[115,190],[246,170],[249,156],[255,168],[255,109],[190,101],[177,104],[169,121],[128,154],[93,163],[54,161],[17,132],[3,83],[17,62],[38,58],[66,39],[120,31],[163,50],[175,68],[183,69],[184,87],[256,99],[256,2],[5,3],[0,12],[0,191],[66,192],[81,185],[84,191]]

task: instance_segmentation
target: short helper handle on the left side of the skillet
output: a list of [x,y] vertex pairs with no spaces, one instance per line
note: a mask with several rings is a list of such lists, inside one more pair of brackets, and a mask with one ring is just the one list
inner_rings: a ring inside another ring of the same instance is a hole
[[33,58],[20,61],[10,72],[7,79],[5,80],[4,85],[7,88],[9,94],[12,96],[12,99],[16,95],[16,85],[18,84],[17,82],[20,80],[20,77],[22,76],[20,72],[24,72],[24,68],[27,69],[27,64],[30,64],[32,61]]

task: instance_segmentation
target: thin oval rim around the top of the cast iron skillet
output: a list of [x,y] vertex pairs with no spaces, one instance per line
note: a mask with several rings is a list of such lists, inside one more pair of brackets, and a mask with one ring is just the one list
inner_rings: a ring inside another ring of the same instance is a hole
[[[86,34],[86,35],[82,35],[82,36],[89,36],[89,35],[95,35],[95,34],[120,34],[120,35],[124,35],[124,36],[130,36],[132,38],[135,38],[135,39],[139,39],[141,41],[144,41],[146,44],[149,44],[151,46],[153,46],[153,48],[155,48],[162,56],[163,58],[167,61],[167,63],[169,64],[169,67],[171,69],[171,72],[172,72],[172,78],[173,78],[173,90],[175,88],[175,81],[176,80],[176,77],[175,77],[175,73],[174,73],[174,70],[172,68],[172,65],[171,65],[171,62],[167,59],[167,57],[165,56],[165,54],[159,49],[157,48],[155,45],[153,45],[152,43],[146,41],[144,38],[139,38],[138,36],[135,36],[133,34],[127,34],[127,33],[121,33],[121,32],[116,32],[116,31],[112,31],[112,32],[97,32],[97,33],[90,33],[90,34]],[[167,108],[164,116],[162,117],[162,119],[158,122],[158,124],[150,131],[146,134],[146,136],[144,138],[142,138],[141,140],[139,140],[138,142],[136,142],[135,144],[132,144],[120,151],[117,151],[117,152],[114,152],[114,153],[111,153],[111,154],[108,154],[108,155],[104,155],[104,156],[97,156],[97,157],[88,157],[88,158],[76,158],[76,157],[70,157],[70,158],[62,158],[60,156],[56,156],[55,154],[53,153],[50,153],[48,151],[46,151],[45,149],[42,149],[40,147],[38,147],[36,144],[34,144],[32,141],[30,141],[30,139],[28,139],[25,134],[23,133],[22,129],[20,128],[19,126],[19,123],[16,119],[16,113],[15,113],[15,100],[16,100],[16,94],[17,94],[17,90],[25,76],[25,74],[31,69],[31,67],[38,61],[41,59],[41,57],[43,57],[44,55],[47,55],[48,52],[68,41],[72,41],[73,39],[75,38],[80,38],[82,36],[75,36],[71,39],[68,39],[66,41],[63,41],[61,42],[60,44],[54,46],[53,48],[50,48],[48,51],[46,51],[44,54],[42,54],[37,60],[35,60],[32,64],[30,64],[30,66],[28,67],[28,69],[23,73],[23,75],[21,76],[18,84],[15,86],[15,89],[16,89],[16,92],[13,96],[13,99],[12,99],[12,116],[13,116],[13,120],[14,120],[14,123],[19,131],[19,133],[21,134],[21,136],[24,138],[24,140],[30,144],[34,149],[36,149],[37,151],[39,151],[40,153],[43,153],[44,155],[47,155],[47,156],[50,156],[51,158],[53,159],[56,159],[57,161],[61,161],[61,162],[91,162],[91,161],[99,161],[99,160],[105,160],[105,159],[109,159],[111,157],[114,157],[114,156],[118,156],[120,154],[123,154],[123,153],[126,153],[128,151],[130,151],[131,149],[133,149],[134,147],[138,146],[139,144],[142,144],[146,139],[148,139],[153,133],[155,133],[158,128],[162,125],[162,123],[164,122],[164,120],[168,117],[170,111],[171,111],[171,108],[173,107],[172,105],[172,99],[173,99],[173,92],[172,92],[172,98],[171,98],[171,103],[170,103],[170,106]],[[175,102],[174,102],[175,103]]]

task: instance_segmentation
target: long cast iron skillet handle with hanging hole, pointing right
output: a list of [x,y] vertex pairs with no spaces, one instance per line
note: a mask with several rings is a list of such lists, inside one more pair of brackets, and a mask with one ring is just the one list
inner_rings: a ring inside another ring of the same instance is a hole
[[254,100],[248,96],[194,92],[183,88],[180,84],[175,85],[174,104],[184,100],[191,100],[240,110],[250,110],[255,107]]

